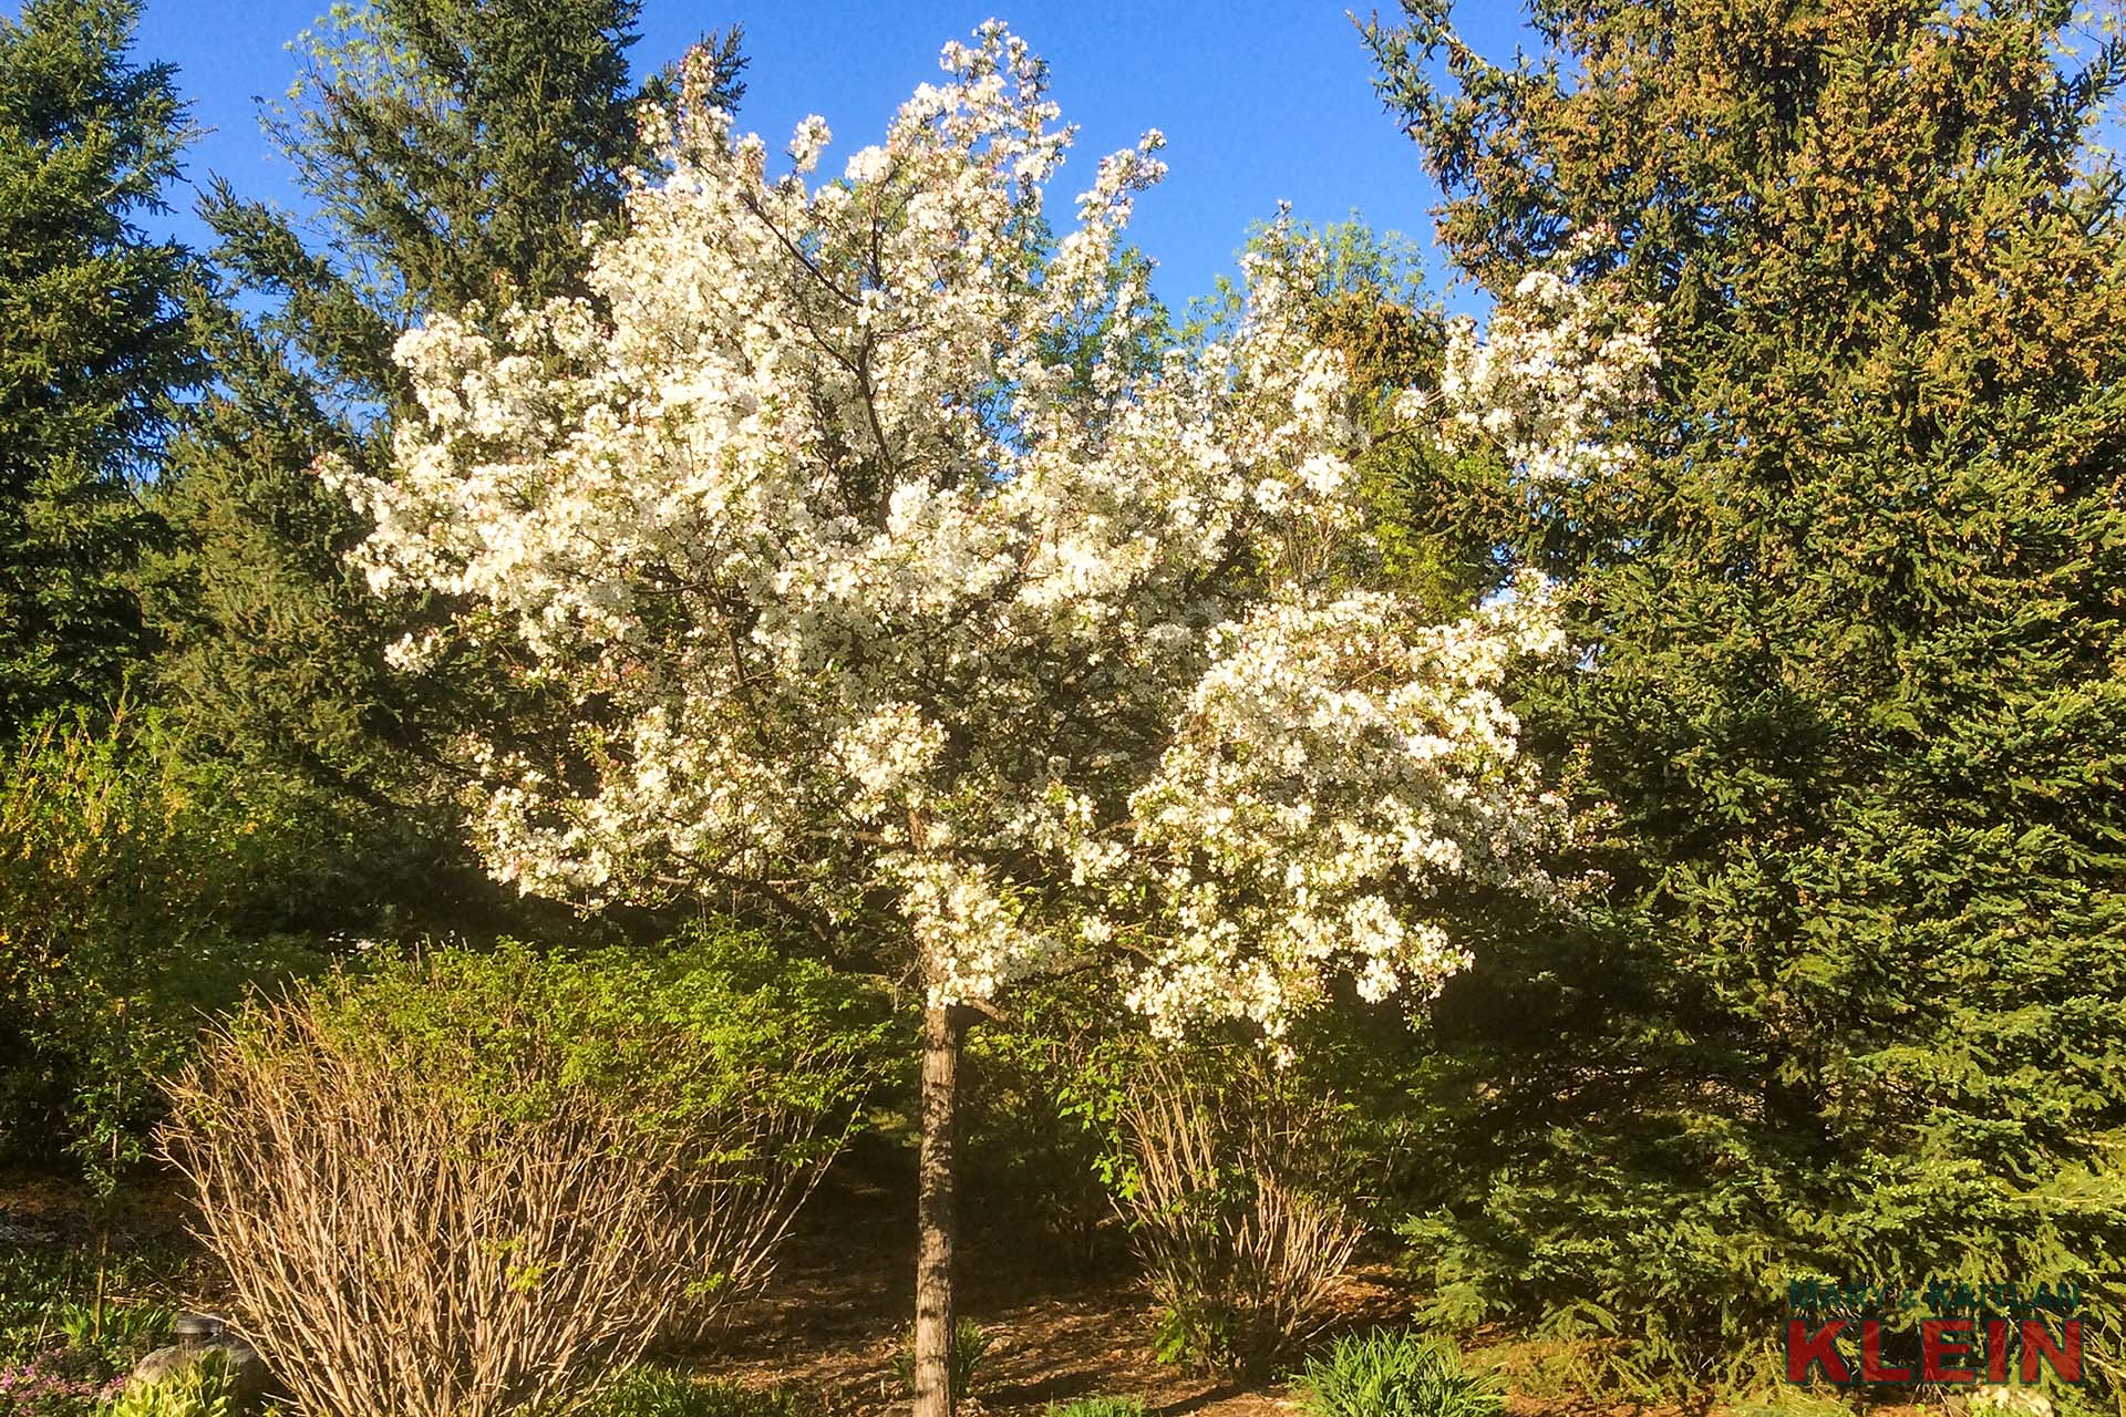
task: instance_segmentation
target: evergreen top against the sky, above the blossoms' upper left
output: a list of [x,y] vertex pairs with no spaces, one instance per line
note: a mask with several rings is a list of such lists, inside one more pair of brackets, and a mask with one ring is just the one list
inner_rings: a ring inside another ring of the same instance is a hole
[[[532,304],[583,291],[576,232],[612,217],[629,166],[655,164],[636,108],[668,85],[627,74],[640,11],[366,0],[298,36],[300,74],[268,132],[342,234],[364,304],[406,319],[497,291]],[[704,40],[723,106],[744,93],[736,38]]]

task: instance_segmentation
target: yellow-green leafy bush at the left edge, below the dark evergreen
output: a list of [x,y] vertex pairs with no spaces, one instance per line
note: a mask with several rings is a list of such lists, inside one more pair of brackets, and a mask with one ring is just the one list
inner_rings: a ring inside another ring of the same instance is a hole
[[315,967],[279,931],[334,843],[123,707],[0,761],[0,1143],[64,1149],[108,1190],[206,1015]]

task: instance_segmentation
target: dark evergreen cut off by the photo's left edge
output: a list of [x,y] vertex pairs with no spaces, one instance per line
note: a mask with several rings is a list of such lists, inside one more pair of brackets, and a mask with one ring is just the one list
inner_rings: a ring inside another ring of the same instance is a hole
[[187,257],[136,225],[189,138],[172,70],[125,62],[138,13],[0,17],[0,741],[100,707],[142,654],[136,482],[198,380]]

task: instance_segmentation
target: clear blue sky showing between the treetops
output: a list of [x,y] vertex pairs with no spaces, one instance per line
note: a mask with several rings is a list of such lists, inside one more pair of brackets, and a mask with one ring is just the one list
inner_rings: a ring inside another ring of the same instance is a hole
[[[191,149],[187,176],[217,172],[249,195],[300,208],[287,164],[259,134],[255,98],[287,89],[287,40],[325,4],[147,0],[136,57],[176,64],[193,119],[210,130]],[[19,6],[9,0],[0,8],[13,15]],[[1512,53],[1509,6],[1463,8],[1463,30],[1480,49]],[[1359,208],[1373,225],[1431,249],[1437,191],[1416,147],[1382,110],[1367,51],[1335,0],[648,0],[634,59],[655,68],[702,30],[740,21],[753,59],[740,125],[780,151],[797,119],[819,113],[836,132],[833,151],[848,153],[878,138],[916,83],[938,76],[944,40],[967,36],[991,15],[1048,57],[1063,117],[1082,130],[1063,174],[1065,195],[1089,181],[1099,153],[1129,147],[1146,127],[1167,134],[1171,176],[1137,204],[1135,240],[1159,259],[1157,289],[1169,304],[1208,291],[1231,270],[1248,225],[1269,217],[1280,198],[1312,221]],[[179,210],[168,225],[202,240],[191,193],[172,198]]]

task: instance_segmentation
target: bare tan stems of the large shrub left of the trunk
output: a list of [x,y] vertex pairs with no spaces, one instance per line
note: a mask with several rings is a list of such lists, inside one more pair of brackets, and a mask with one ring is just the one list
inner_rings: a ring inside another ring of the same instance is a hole
[[597,1098],[493,1115],[296,1005],[210,1039],[168,1154],[289,1394],[338,1417],[561,1411],[638,1358],[693,1241],[680,1151]]

